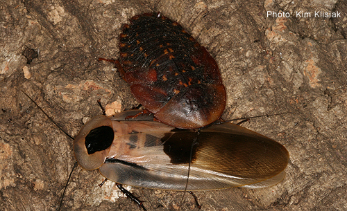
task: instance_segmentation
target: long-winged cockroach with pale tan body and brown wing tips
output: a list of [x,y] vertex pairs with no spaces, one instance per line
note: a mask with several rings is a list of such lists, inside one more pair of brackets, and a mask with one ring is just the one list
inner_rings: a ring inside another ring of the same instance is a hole
[[116,183],[178,191],[269,187],[285,176],[289,154],[271,138],[232,123],[197,131],[153,115],[126,120],[138,112],[87,122],[74,140],[78,164]]

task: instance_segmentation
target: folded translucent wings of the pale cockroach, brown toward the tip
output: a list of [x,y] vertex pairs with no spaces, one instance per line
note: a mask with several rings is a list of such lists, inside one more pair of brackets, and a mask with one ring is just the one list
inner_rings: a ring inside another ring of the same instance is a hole
[[185,190],[191,158],[187,190],[269,187],[285,176],[287,149],[243,127],[226,123],[196,132],[146,122],[147,131],[140,131],[143,125],[135,123],[131,134],[112,143],[113,158],[99,168],[117,183]]

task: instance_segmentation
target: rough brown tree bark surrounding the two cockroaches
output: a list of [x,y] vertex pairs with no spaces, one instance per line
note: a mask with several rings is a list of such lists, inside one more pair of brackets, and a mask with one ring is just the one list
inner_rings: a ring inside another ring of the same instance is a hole
[[[96,100],[137,104],[98,57],[117,59],[121,24],[151,11],[178,21],[216,59],[224,119],[296,111],[243,125],[287,147],[285,180],[196,192],[202,210],[347,210],[346,1],[10,0],[0,9],[0,210],[56,210],[75,162],[72,140],[22,91],[71,136],[101,113]],[[62,210],[139,210],[102,180],[77,167]],[[148,210],[197,210],[189,194],[180,205],[182,192],[130,190]]]

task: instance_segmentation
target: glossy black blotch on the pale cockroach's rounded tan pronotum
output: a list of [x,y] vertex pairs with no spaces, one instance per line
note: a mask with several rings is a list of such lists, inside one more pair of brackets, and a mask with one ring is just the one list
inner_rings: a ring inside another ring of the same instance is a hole
[[90,133],[85,136],[85,147],[88,154],[103,151],[110,147],[115,138],[115,132],[112,127],[101,126],[92,129]]

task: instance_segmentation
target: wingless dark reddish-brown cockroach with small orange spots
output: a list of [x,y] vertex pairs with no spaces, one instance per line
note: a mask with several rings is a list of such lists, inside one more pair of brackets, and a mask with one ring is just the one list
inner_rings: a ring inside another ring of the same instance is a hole
[[217,62],[180,24],[160,13],[137,15],[124,24],[115,63],[139,103],[167,125],[203,127],[226,107]]

